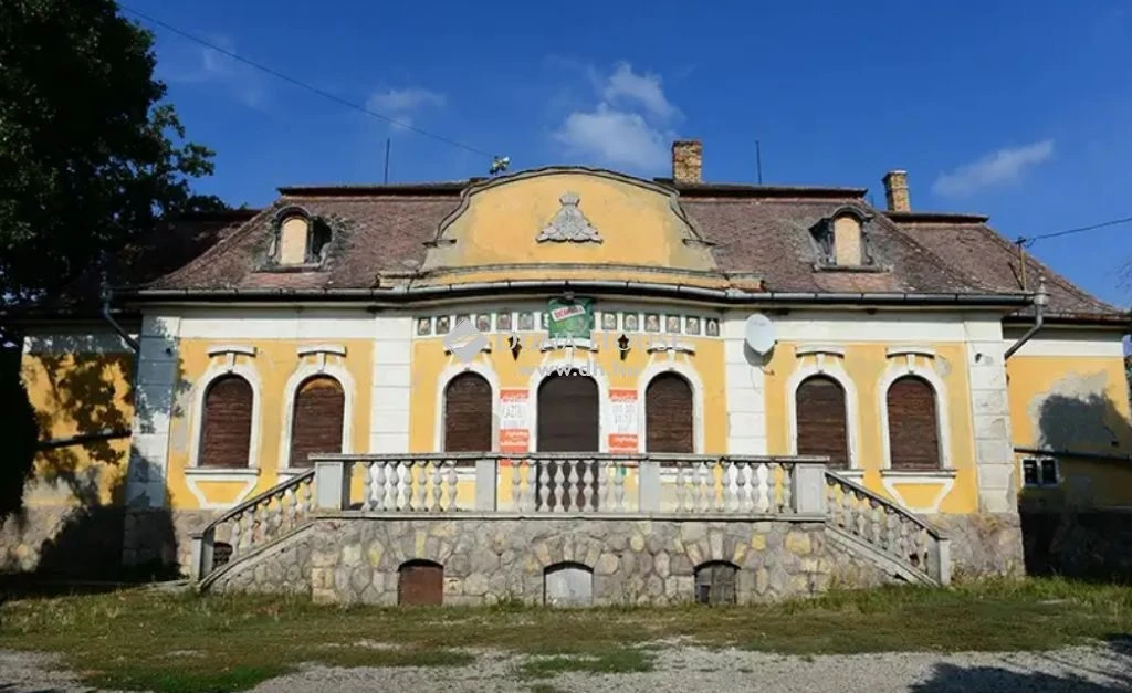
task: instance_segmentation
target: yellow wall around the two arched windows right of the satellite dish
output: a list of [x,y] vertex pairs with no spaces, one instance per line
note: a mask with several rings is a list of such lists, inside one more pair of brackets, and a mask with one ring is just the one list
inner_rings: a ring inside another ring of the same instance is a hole
[[[967,378],[966,348],[955,343],[926,345],[936,352],[935,358],[927,362],[932,365],[935,374],[947,388],[947,425],[951,429],[947,436],[949,456],[951,465],[957,472],[954,485],[941,500],[938,512],[975,512],[978,507],[978,477],[971,431],[970,385]],[[798,358],[796,352],[798,346],[794,343],[775,345],[770,362],[765,367],[767,452],[775,455],[784,455],[790,451],[787,400],[792,397],[794,393],[788,392],[788,383],[795,370],[800,369],[804,365],[804,359]],[[824,358],[837,360],[857,391],[857,419],[850,424],[857,431],[855,453],[858,465],[865,471],[863,482],[869,490],[891,497],[891,494],[884,488],[882,474],[884,444],[880,411],[885,405],[885,393],[878,390],[881,380],[893,360],[885,353],[890,345],[840,343],[838,346],[844,349],[843,359],[833,356]],[[813,358],[812,356],[805,357],[805,359]],[[943,484],[943,480],[941,479],[938,484]],[[898,488],[901,494],[908,493],[908,499],[911,502],[914,497],[920,499],[928,493],[934,498],[935,493],[938,491],[938,484],[933,480],[933,484],[926,485],[931,487],[931,491],[915,488],[907,482],[901,484]],[[927,505],[929,506],[931,503]]]

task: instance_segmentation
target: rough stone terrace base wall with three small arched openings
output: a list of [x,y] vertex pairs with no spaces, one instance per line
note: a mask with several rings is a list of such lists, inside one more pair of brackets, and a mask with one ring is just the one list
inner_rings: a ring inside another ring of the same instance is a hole
[[691,601],[696,567],[709,562],[739,568],[739,604],[892,580],[831,547],[821,522],[324,517],[211,589],[395,605],[398,568],[410,561],[443,566],[448,605],[542,604],[546,568],[564,563],[592,572],[597,605]]

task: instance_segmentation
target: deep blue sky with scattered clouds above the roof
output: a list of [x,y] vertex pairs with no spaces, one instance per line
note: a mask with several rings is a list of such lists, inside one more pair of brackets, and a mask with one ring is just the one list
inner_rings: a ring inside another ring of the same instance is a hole
[[[512,168],[868,187],[907,169],[912,207],[988,214],[1009,238],[1132,216],[1132,3],[130,0],[128,6]],[[487,173],[489,159],[281,82],[156,28],[158,76],[200,189],[269,203],[290,183]],[[1132,300],[1132,224],[1030,249]]]

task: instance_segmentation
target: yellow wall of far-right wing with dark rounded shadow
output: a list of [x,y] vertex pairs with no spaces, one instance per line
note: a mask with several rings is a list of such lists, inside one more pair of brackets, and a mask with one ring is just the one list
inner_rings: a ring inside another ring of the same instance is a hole
[[[1015,447],[1132,454],[1124,361],[1116,357],[1015,356],[1006,362]],[[1024,454],[1017,455],[1021,461]],[[1058,488],[1022,491],[1026,502],[1132,505],[1132,461],[1061,460]],[[1018,469],[1021,486],[1021,463]]]

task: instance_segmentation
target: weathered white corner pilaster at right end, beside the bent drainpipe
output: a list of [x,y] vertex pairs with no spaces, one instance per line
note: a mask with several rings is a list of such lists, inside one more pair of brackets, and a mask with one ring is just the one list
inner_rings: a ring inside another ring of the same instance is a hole
[[997,319],[967,320],[964,331],[979,510],[1018,512],[1002,323]]

